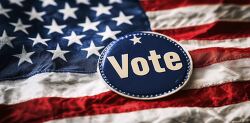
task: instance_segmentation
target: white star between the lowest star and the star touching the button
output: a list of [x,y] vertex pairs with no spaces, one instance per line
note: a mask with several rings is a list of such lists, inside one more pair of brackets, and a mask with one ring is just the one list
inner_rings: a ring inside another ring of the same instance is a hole
[[55,60],[56,58],[61,58],[62,60],[67,62],[64,54],[68,53],[69,51],[61,50],[61,47],[59,46],[59,44],[57,44],[55,50],[47,50],[47,51],[53,54],[52,60]]

